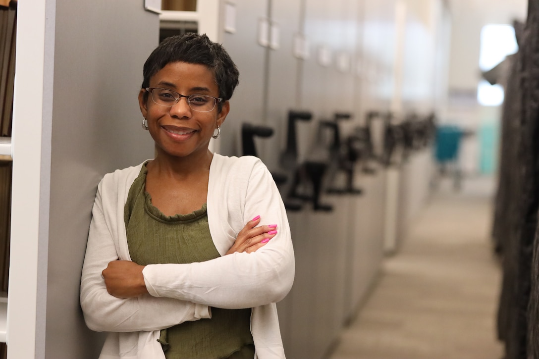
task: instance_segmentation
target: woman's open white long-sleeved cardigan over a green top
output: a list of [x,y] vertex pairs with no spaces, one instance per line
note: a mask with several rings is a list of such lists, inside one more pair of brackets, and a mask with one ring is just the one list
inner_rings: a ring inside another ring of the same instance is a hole
[[[191,264],[154,264],[143,270],[150,294],[108,294],[101,271],[130,260],[123,209],[142,164],[116,170],[98,185],[82,268],[80,302],[87,326],[107,336],[101,359],[164,358],[163,328],[211,317],[209,306],[253,308],[255,357],[284,358],[276,302],[294,280],[294,253],[285,207],[273,178],[256,157],[213,155],[208,182],[210,233],[222,257]],[[278,234],[254,253],[225,256],[245,223],[278,224]]]

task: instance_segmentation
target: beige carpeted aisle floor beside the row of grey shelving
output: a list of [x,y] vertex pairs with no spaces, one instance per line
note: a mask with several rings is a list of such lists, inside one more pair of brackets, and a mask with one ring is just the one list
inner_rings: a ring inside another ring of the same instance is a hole
[[493,181],[441,188],[410,225],[331,359],[499,359]]

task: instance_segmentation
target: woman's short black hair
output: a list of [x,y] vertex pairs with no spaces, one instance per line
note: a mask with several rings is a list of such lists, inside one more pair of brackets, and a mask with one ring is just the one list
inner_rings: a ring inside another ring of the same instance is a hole
[[[195,32],[165,38],[155,48],[144,63],[142,88],[149,87],[150,78],[163,67],[178,61],[208,66],[215,75],[219,97],[224,101],[230,100],[238,86],[239,72],[236,64],[222,45],[212,42],[206,34]],[[148,93],[145,94],[145,100],[147,96]]]

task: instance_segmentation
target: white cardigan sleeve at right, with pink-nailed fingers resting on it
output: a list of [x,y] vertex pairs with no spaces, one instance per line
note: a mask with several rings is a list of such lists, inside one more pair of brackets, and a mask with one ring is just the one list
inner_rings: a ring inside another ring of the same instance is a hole
[[[278,224],[278,234],[254,253],[233,253],[202,263],[148,265],[142,273],[151,295],[236,309],[278,302],[289,292],[294,253],[285,207],[265,165],[252,158],[223,169],[226,178],[215,181],[222,187],[213,193],[226,194],[218,197],[223,203],[216,204],[217,218],[223,222],[220,227],[232,227],[237,234],[248,220],[260,215],[262,223]],[[210,198],[208,203],[212,220]],[[212,232],[213,236],[226,234]]]

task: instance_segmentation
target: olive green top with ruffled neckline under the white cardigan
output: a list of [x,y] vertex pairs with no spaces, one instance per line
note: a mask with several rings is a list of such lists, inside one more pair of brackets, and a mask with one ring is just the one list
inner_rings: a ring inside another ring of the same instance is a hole
[[[206,204],[187,215],[165,216],[144,191],[146,164],[135,179],[125,206],[127,244],[140,265],[194,263],[220,257],[213,244]],[[211,319],[184,322],[161,330],[167,359],[254,357],[251,309],[211,308]]]

